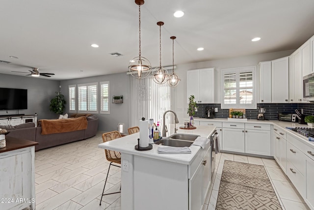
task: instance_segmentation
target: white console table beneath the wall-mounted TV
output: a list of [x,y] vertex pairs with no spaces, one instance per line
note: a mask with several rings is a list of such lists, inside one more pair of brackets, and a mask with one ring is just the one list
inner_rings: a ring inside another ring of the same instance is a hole
[[37,114],[35,115],[2,115],[0,116],[0,125],[19,125],[26,122],[34,122],[37,126]]

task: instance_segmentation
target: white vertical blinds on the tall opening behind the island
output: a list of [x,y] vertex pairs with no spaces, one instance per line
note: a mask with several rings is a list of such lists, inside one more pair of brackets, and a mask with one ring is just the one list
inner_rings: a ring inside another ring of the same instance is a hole
[[[158,85],[151,77],[138,80],[130,76],[130,127],[138,126],[138,121],[142,117],[147,120],[152,118],[156,124],[160,121],[162,126],[163,113],[172,108],[172,95],[173,89],[167,84]],[[168,113],[165,123],[169,124],[171,119],[174,118]]]

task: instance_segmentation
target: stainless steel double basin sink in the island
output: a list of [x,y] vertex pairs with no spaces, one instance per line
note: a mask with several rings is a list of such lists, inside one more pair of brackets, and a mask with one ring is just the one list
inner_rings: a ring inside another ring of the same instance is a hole
[[175,133],[157,140],[154,144],[170,147],[189,147],[199,135]]

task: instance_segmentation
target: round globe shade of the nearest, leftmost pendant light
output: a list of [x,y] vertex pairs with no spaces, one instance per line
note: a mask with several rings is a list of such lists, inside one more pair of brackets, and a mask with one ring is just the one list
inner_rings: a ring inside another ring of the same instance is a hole
[[136,79],[143,79],[151,74],[151,63],[144,57],[135,57],[129,63],[129,72]]

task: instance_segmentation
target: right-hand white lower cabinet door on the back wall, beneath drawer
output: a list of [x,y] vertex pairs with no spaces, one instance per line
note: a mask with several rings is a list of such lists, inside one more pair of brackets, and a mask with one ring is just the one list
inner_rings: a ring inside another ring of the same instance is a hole
[[270,156],[270,130],[245,129],[245,153]]

